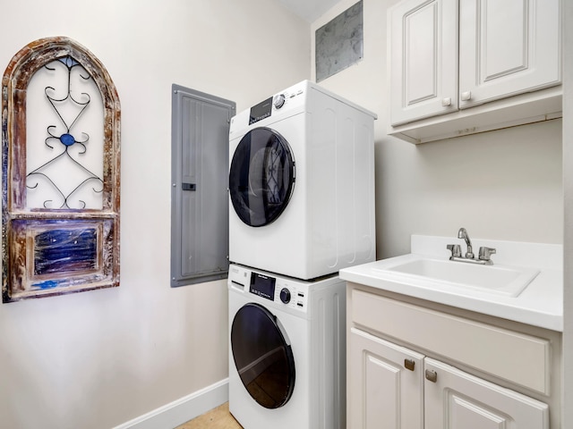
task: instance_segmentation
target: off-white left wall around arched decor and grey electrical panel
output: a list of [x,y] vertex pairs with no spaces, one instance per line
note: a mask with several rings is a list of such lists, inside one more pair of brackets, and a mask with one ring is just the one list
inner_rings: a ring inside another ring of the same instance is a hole
[[268,0],[19,0],[0,17],[2,72],[66,36],[122,102],[121,286],[0,305],[0,427],[111,427],[225,379],[226,283],[169,287],[171,84],[242,110],[310,77],[308,23]]

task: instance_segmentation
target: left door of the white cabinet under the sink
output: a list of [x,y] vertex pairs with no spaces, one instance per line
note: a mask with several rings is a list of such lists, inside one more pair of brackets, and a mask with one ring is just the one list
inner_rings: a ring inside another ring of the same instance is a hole
[[423,355],[352,328],[347,368],[347,427],[423,428]]

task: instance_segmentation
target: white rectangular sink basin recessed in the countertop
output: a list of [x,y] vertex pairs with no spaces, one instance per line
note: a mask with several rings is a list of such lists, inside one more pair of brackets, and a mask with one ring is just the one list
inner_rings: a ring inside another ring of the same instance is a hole
[[420,258],[389,265],[380,272],[402,275],[410,281],[440,282],[446,286],[517,297],[535,279],[539,270],[506,265]]

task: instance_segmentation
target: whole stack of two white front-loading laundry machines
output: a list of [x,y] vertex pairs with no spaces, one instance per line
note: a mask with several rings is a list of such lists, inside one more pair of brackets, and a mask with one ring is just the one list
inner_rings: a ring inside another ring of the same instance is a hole
[[229,409],[245,429],[346,427],[346,284],[375,259],[376,115],[304,80],[229,131]]

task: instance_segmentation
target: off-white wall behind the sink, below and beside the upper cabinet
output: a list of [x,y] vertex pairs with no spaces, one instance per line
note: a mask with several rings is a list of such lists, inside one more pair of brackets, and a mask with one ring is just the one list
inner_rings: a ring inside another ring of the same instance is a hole
[[[342,0],[314,32],[355,4]],[[411,234],[561,243],[561,121],[414,146],[387,136],[386,11],[363,0],[363,60],[321,86],[376,112],[377,257],[409,252]],[[312,76],[315,76],[312,61]]]

